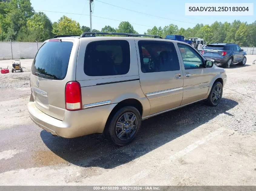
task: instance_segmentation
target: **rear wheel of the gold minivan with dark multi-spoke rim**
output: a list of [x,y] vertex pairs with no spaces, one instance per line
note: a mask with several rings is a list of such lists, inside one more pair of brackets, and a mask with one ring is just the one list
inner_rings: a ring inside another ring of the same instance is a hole
[[123,146],[133,141],[140,126],[140,112],[133,106],[125,106],[112,116],[105,134],[116,145]]

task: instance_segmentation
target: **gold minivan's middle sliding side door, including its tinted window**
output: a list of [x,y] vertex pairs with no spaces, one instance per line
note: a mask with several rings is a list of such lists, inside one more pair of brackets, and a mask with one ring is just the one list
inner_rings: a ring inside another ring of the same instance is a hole
[[150,102],[150,115],[181,104],[183,74],[175,45],[168,41],[138,40],[140,84]]

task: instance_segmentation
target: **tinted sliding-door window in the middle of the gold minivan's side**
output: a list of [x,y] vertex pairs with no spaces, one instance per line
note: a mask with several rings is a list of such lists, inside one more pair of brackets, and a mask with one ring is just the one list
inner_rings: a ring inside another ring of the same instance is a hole
[[172,42],[140,40],[138,45],[141,72],[180,70],[178,55]]

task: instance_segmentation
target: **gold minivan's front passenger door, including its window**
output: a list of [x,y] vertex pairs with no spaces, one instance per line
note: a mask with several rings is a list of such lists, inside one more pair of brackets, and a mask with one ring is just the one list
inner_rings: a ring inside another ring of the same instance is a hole
[[181,105],[184,105],[204,99],[215,74],[210,72],[211,68],[203,67],[204,59],[192,47],[179,43],[178,47],[183,60],[184,84]]

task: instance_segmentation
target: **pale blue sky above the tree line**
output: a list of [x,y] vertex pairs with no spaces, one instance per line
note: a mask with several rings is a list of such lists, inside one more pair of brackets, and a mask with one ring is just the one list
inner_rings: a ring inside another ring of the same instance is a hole
[[[88,0],[30,0],[35,11],[44,12],[52,22],[58,21],[66,15],[79,22],[80,26],[90,27],[89,1]],[[105,2],[105,3],[102,3]],[[173,1],[173,0],[94,0],[92,5],[92,28],[101,30],[105,25],[117,28],[121,21],[129,21],[138,33],[157,26],[164,27],[176,24],[179,28],[194,27],[197,23],[211,25],[215,21],[232,22],[235,19],[248,24],[256,20],[256,3],[253,16],[185,16],[185,3],[206,3],[205,1]],[[254,3],[254,0],[215,0],[214,3]],[[108,5],[108,4],[112,5]],[[119,7],[130,9],[125,10]],[[48,12],[54,11],[54,12]],[[157,18],[145,14],[155,15]],[[62,12],[62,13],[58,13]],[[67,14],[75,13],[75,14]],[[80,15],[79,15],[80,14]],[[86,15],[81,15],[86,14]],[[101,17],[101,18],[100,18]],[[107,19],[108,18],[108,19]],[[166,19],[165,19],[166,18]],[[111,20],[112,19],[112,20]],[[174,21],[175,20],[175,21]]]

